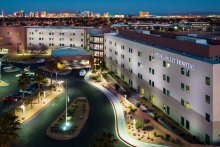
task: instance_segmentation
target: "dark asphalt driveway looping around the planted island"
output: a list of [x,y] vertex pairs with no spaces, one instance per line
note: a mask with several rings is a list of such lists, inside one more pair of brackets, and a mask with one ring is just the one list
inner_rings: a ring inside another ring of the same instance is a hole
[[[87,147],[93,140],[93,136],[104,128],[115,133],[114,112],[107,97],[82,80],[75,79],[75,73],[71,73],[68,77],[70,100],[76,97],[87,97],[90,103],[90,116],[82,133],[77,138],[68,141],[55,141],[46,136],[48,126],[64,111],[65,99],[61,95],[21,126],[19,135],[22,144],[20,146]],[[119,141],[117,146],[125,147],[126,145]]]

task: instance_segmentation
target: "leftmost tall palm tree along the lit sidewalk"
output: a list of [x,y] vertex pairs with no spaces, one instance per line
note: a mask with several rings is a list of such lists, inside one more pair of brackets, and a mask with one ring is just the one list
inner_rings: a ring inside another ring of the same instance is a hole
[[[31,80],[30,78],[26,75],[26,72],[25,71],[22,71],[21,72],[21,76],[19,77],[18,79],[18,88],[20,88],[22,90],[22,101],[23,101],[23,104],[24,104],[24,99],[25,99],[25,89],[26,89],[26,86],[29,85],[31,83]],[[32,104],[31,104],[31,107],[32,107]]]

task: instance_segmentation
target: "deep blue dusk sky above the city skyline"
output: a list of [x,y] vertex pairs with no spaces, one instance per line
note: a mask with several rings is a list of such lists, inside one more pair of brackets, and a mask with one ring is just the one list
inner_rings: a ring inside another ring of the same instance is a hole
[[152,14],[182,12],[220,12],[220,0],[2,0],[6,13],[29,11],[95,11],[112,13]]

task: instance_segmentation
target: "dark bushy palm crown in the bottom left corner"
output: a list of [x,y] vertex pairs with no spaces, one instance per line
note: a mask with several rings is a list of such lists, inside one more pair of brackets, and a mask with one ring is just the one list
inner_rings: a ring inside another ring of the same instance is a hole
[[9,147],[11,143],[18,143],[20,122],[12,113],[0,117],[0,146]]

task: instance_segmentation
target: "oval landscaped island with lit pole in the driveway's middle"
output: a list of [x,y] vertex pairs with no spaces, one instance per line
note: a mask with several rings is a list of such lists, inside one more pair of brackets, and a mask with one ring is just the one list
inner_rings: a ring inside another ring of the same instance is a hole
[[[66,113],[67,112],[67,113]],[[47,129],[47,135],[55,140],[76,137],[89,117],[89,102],[85,97],[76,98]]]

